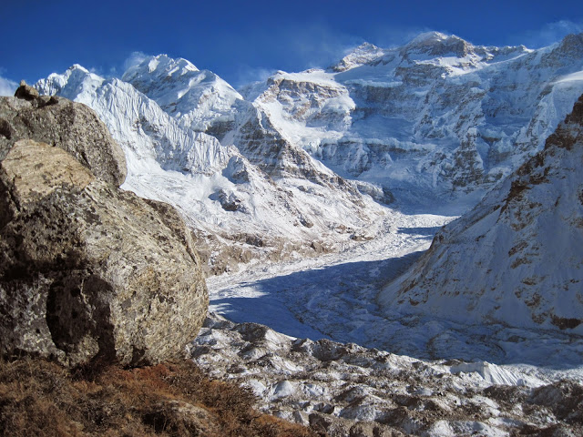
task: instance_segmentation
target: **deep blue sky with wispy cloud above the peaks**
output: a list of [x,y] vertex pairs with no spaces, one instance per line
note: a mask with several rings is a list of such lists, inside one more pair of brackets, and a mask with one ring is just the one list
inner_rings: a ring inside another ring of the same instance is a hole
[[396,46],[428,30],[537,48],[583,32],[583,2],[5,0],[0,76],[34,83],[73,64],[119,76],[133,53],[166,53],[239,86],[276,69],[328,66],[363,41]]

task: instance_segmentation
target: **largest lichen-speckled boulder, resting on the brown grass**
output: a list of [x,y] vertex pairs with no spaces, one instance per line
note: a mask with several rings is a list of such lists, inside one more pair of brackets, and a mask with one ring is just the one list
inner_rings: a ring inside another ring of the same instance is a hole
[[3,150],[2,355],[141,365],[180,356],[196,337],[209,298],[189,230],[174,208],[104,179],[32,139]]

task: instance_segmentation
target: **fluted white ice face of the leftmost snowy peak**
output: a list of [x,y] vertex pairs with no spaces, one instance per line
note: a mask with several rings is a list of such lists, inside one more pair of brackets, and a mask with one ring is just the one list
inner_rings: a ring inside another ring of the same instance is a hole
[[[119,79],[104,79],[82,66],[40,80],[41,94],[57,95],[93,108],[122,147],[151,158],[167,170],[212,174],[230,158],[216,138],[179,126],[160,107]],[[138,164],[128,159],[129,171]]]

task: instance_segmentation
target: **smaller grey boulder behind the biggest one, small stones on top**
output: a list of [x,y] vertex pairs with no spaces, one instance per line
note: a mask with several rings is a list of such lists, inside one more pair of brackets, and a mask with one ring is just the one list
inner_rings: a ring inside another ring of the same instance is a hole
[[0,159],[23,138],[66,150],[117,187],[126,179],[124,152],[93,110],[62,97],[39,97],[35,88],[21,83],[15,97],[0,98]]

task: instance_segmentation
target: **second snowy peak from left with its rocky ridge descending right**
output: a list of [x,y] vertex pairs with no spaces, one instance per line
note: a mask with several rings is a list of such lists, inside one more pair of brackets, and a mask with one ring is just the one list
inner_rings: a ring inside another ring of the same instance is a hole
[[189,61],[151,56],[130,67],[123,79],[155,100],[182,126],[217,137],[225,147],[238,147],[272,177],[309,178],[321,185],[340,184],[355,191],[298,147],[294,138],[281,135],[262,108],[245,101],[219,76],[199,71]]

